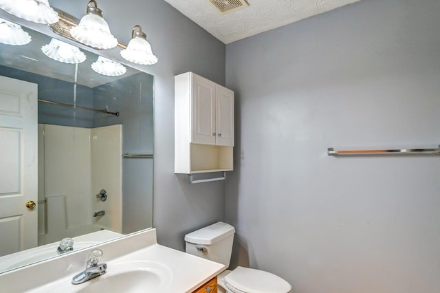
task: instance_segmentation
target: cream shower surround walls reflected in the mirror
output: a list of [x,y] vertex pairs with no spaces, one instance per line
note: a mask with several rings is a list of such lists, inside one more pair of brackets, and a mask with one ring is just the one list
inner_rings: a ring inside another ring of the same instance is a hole
[[[39,245],[122,232],[122,126],[39,124]],[[106,202],[96,199],[105,189]],[[102,217],[94,212],[104,210]]]

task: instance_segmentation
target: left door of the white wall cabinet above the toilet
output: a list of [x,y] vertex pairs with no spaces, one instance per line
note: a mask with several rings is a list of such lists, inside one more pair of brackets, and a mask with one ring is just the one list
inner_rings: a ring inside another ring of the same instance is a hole
[[201,76],[192,78],[192,142],[215,144],[215,83]]

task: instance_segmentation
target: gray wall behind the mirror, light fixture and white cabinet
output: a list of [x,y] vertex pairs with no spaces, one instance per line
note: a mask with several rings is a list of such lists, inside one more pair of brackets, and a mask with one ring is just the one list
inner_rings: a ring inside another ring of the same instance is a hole
[[[78,19],[87,2],[50,1]],[[185,175],[174,174],[174,76],[192,71],[224,85],[225,45],[162,0],[107,0],[98,1],[98,7],[122,43],[129,42],[134,25],[141,25],[159,58],[156,65],[133,66],[155,76],[153,226],[159,243],[184,250],[186,232],[225,219],[225,183],[189,185]],[[98,54],[126,63],[119,52]],[[142,174],[132,176],[143,180]]]

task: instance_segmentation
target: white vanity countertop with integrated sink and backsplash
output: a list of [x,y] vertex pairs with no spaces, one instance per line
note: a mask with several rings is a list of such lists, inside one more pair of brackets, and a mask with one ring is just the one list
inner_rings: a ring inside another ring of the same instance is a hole
[[[104,253],[97,265],[107,264],[105,274],[73,285],[96,249]],[[194,292],[223,270],[220,263],[159,245],[151,228],[0,274],[0,292]]]

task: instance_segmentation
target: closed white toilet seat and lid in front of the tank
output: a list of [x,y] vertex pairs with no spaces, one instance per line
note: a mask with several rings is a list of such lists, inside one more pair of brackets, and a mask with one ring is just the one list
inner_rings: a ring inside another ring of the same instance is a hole
[[225,286],[236,293],[288,293],[292,286],[275,274],[237,267],[226,275]]

